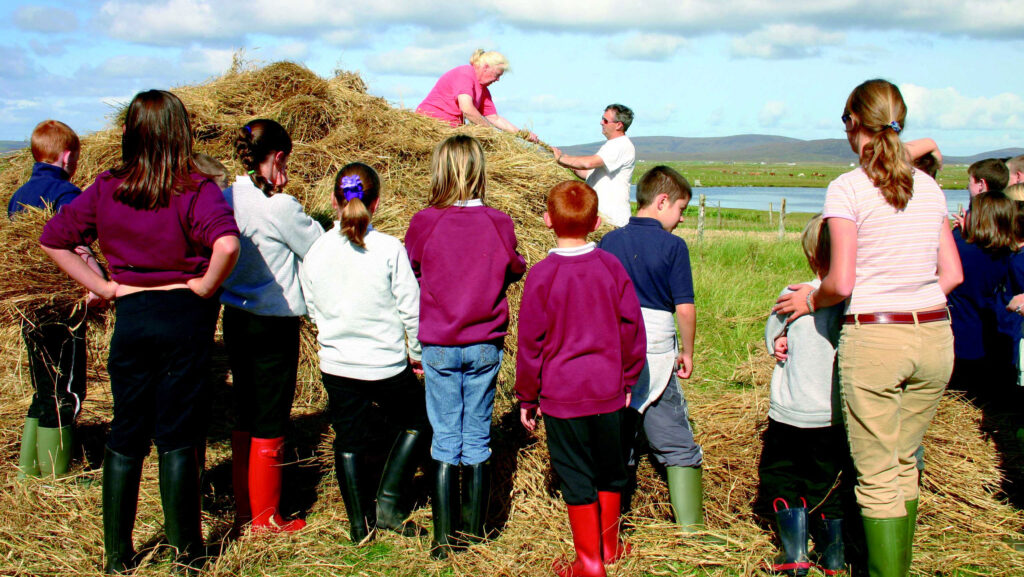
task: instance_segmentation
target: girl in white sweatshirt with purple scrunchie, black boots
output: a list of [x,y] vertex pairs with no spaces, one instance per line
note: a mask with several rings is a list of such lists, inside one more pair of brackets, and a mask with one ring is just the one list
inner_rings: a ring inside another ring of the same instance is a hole
[[[352,163],[335,179],[335,228],[306,254],[300,278],[309,316],[316,323],[328,414],[335,431],[338,485],[353,543],[374,528],[401,530],[409,514],[402,494],[430,439],[420,342],[420,286],[401,241],[370,220],[380,203],[380,177]],[[399,428],[374,495],[365,468],[371,430],[383,426],[371,405]]]

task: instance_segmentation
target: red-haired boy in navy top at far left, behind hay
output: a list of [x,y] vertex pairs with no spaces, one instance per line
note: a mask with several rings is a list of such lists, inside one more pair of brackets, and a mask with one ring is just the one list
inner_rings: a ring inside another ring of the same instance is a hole
[[[56,120],[40,122],[32,131],[32,177],[14,192],[7,216],[26,207],[54,211],[78,198],[71,177],[78,167],[78,134]],[[100,271],[92,251],[80,246],[82,258]],[[101,301],[90,293],[89,305]],[[72,425],[85,400],[85,320],[35,319],[22,324],[29,351],[29,373],[36,393],[25,419],[18,477],[63,475],[72,454]]]

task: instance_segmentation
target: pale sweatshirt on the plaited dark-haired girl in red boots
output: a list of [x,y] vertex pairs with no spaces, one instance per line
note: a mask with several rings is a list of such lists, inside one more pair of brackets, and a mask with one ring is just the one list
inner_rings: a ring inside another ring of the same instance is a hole
[[224,198],[234,209],[242,232],[242,253],[224,281],[220,301],[264,317],[305,315],[299,261],[324,228],[303,211],[295,197],[267,197],[248,176],[236,177]]

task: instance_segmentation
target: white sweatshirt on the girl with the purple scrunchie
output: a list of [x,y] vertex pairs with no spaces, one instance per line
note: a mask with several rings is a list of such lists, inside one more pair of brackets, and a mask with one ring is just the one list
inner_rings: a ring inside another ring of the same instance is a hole
[[335,222],[306,253],[299,277],[318,331],[321,370],[381,380],[421,358],[420,285],[398,239],[371,229],[364,240],[365,250]]

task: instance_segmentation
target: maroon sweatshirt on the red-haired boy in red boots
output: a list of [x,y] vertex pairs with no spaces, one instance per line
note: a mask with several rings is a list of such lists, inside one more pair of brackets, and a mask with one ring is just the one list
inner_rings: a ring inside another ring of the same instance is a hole
[[612,254],[585,250],[535,264],[519,308],[516,398],[562,419],[625,407],[647,355],[629,275]]

